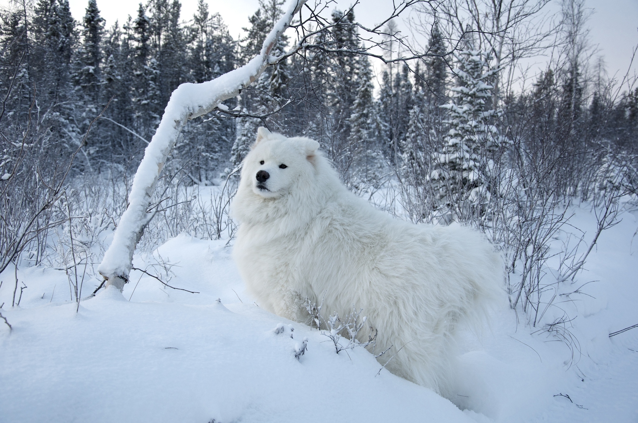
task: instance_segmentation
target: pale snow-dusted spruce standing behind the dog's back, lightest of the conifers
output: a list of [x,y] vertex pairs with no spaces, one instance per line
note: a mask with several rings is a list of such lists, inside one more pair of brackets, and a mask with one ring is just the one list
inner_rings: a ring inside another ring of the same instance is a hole
[[464,50],[456,55],[457,86],[445,120],[449,131],[440,152],[434,153],[429,179],[438,201],[438,215],[445,222],[471,220],[484,214],[491,195],[493,154],[507,140],[500,136],[494,120],[500,114],[486,110],[492,96],[490,80],[499,69],[489,69],[489,54]]

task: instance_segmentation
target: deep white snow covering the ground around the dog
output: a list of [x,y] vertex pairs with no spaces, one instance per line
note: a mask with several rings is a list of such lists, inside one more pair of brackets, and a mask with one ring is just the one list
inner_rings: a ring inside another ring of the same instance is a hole
[[[575,213],[570,223],[591,234],[590,211]],[[7,269],[0,422],[638,422],[638,328],[609,338],[638,324],[638,220],[621,217],[572,291],[595,282],[557,300],[573,318],[574,352],[533,333],[503,294],[491,327],[462,337],[456,405],[380,371],[364,348],[336,354],[315,329],[260,309],[225,241],[182,234],[135,257],[137,268],[173,264],[168,283],[197,294],[133,271],[123,295],[101,290],[78,312],[64,272],[45,268],[19,269],[27,288],[11,308]]]

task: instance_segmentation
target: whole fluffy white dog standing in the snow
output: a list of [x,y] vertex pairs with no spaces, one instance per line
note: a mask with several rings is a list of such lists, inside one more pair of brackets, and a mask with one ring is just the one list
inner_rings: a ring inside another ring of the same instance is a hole
[[363,308],[376,351],[392,347],[380,362],[394,355],[392,373],[449,394],[456,327],[477,320],[498,290],[498,255],[470,229],[375,210],[339,182],[318,147],[258,129],[232,204],[242,278],[259,306],[300,322],[309,320],[306,298],[323,301],[324,317]]

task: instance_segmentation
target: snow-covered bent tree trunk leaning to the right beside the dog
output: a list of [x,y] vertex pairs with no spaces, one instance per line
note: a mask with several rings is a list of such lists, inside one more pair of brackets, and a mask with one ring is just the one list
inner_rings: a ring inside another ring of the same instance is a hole
[[148,212],[151,194],[168,154],[181,136],[186,122],[209,113],[222,101],[237,96],[241,89],[248,87],[262,74],[263,69],[275,62],[276,57],[270,55],[272,47],[290,25],[293,15],[299,12],[306,1],[290,1],[286,13],[263,41],[262,51],[248,64],[212,81],[182,83],[171,94],[158,129],[146,147],[144,158],[133,178],[129,195],[130,204],[122,214],[115,229],[113,242],[98,267],[98,271],[107,281],[107,287],[114,285],[122,290],[124,283],[128,282],[133,267],[133,252],[152,216],[152,213]]

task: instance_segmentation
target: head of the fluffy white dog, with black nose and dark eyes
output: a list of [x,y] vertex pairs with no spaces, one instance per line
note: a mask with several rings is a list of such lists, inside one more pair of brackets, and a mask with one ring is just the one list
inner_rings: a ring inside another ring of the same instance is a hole
[[258,196],[279,198],[300,180],[315,174],[319,143],[309,138],[287,138],[257,129],[257,138],[244,159],[242,183]]

